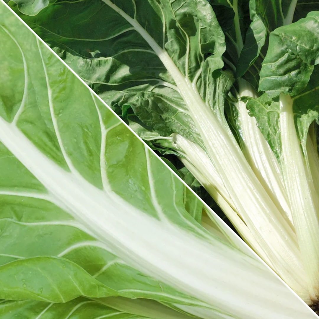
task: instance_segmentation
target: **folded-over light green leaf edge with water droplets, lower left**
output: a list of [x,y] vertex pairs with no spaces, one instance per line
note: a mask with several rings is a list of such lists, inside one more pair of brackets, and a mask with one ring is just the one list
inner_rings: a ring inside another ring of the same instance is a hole
[[118,295],[77,264],[62,258],[34,257],[6,263],[0,267],[0,280],[0,296],[8,300],[66,302],[78,296]]

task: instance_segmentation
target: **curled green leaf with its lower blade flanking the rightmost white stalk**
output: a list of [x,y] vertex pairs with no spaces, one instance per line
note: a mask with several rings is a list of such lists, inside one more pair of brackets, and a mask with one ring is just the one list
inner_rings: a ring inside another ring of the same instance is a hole
[[[318,4],[309,5],[315,5],[318,9]],[[299,6],[305,10],[308,3]],[[298,17],[304,15],[300,7],[298,10]],[[318,94],[318,67],[315,66],[319,53],[317,24],[318,11],[313,11],[306,18],[281,26],[271,33],[259,85],[260,90],[268,92],[257,99],[249,98],[247,103],[250,114],[256,118],[258,127],[279,162],[282,151],[278,92],[293,97],[295,125],[304,153],[309,126],[318,117],[318,106],[314,103]]]

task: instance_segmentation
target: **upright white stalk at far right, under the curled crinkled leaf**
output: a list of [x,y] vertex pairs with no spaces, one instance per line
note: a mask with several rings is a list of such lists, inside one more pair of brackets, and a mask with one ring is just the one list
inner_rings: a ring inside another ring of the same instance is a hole
[[314,189],[294,123],[293,100],[280,93],[280,132],[284,181],[291,203],[302,261],[307,274],[309,294],[319,300],[319,220]]

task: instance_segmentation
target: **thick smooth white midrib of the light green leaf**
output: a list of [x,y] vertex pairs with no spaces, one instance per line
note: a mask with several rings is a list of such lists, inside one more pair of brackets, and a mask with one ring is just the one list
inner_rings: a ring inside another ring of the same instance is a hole
[[[112,252],[145,274],[201,300],[198,307],[210,305],[218,313],[239,319],[313,317],[256,259],[221,241],[210,244],[173,224],[167,226],[115,193],[64,171],[1,117],[0,141]],[[216,318],[215,310],[209,313],[210,319]]]

